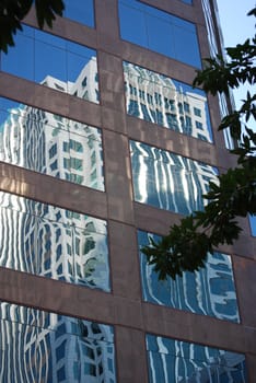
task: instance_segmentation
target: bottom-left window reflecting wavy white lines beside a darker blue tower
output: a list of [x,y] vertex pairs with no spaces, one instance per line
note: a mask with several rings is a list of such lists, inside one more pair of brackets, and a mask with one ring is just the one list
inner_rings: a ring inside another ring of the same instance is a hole
[[0,303],[0,380],[115,383],[112,326]]

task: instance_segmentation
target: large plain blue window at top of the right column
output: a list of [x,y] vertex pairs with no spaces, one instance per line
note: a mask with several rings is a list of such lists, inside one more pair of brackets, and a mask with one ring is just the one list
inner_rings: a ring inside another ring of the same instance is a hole
[[195,24],[136,0],[119,0],[119,21],[121,38],[201,67]]

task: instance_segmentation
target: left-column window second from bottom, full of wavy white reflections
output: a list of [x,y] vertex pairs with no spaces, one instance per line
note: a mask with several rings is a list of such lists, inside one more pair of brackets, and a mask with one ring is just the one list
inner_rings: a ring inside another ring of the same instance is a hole
[[0,266],[109,291],[106,221],[0,193]]

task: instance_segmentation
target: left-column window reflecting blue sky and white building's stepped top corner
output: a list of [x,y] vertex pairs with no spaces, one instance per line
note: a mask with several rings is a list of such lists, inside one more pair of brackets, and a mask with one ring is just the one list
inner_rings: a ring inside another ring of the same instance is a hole
[[98,103],[96,51],[23,25],[0,69],[60,92]]

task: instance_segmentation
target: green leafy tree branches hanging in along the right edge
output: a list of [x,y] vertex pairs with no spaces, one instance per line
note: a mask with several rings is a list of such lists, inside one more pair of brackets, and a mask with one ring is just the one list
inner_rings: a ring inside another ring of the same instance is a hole
[[[256,16],[256,8],[249,15]],[[229,96],[230,89],[241,84],[255,84],[256,38],[226,48],[229,60],[218,55],[203,61],[197,71],[194,86],[200,85],[207,93]],[[247,125],[256,120],[256,95],[247,92],[242,107],[226,115],[219,130],[229,128],[237,148],[231,152],[237,156],[237,166],[218,176],[218,183],[209,184],[202,197],[208,201],[203,211],[195,211],[170,228],[170,233],[159,243],[151,240],[141,248],[148,263],[154,265],[159,279],[173,279],[183,271],[203,267],[207,253],[220,244],[233,244],[242,229],[236,218],[256,214],[256,132]],[[243,131],[243,134],[242,134]]]

